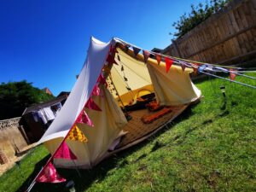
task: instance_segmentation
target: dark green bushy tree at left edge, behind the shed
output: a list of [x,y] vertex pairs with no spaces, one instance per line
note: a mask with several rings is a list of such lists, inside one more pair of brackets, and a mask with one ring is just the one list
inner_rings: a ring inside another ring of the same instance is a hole
[[0,84],[0,119],[19,117],[30,105],[53,97],[25,80],[2,83]]

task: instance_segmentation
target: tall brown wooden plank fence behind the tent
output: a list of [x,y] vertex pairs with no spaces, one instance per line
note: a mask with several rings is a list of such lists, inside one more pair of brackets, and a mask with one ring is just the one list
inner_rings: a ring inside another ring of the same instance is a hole
[[233,0],[161,53],[226,64],[256,58],[256,0]]

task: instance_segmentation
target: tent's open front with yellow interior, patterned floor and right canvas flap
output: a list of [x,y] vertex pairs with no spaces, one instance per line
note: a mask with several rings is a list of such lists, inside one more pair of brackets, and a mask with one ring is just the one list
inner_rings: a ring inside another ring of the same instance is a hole
[[[174,78],[178,78],[173,84],[169,84],[166,76],[170,73],[166,73],[162,62],[158,65],[154,59],[149,58],[146,65],[143,55],[135,56],[131,49],[125,49],[122,44],[117,46],[117,51],[115,55],[117,65],[111,64],[104,67],[104,76],[107,78],[108,90],[122,111],[125,114],[129,113],[131,119],[127,118],[128,122],[123,127],[123,131],[127,133],[119,139],[119,144],[108,154],[142,142],[175,119],[191,102],[199,100],[198,94],[193,94],[194,91],[191,91],[193,88],[191,88],[188,72],[183,72],[181,68],[173,66],[171,73]],[[160,72],[149,65],[161,68]],[[166,89],[161,87],[165,83]],[[183,87],[178,87],[177,84]],[[168,95],[171,96],[168,97]],[[150,102],[162,108],[155,111],[148,110]]]

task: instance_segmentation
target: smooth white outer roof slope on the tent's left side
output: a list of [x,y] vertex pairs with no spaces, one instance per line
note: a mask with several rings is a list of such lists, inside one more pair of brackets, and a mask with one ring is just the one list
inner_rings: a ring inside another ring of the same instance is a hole
[[102,72],[106,61],[108,50],[112,41],[103,43],[96,38],[90,38],[90,46],[87,51],[87,58],[79,74],[79,79],[73,86],[73,90],[67,97],[63,108],[53,123],[38,143],[44,143],[56,137],[66,137],[67,132],[73,126],[75,119],[84,108],[96,81]]

